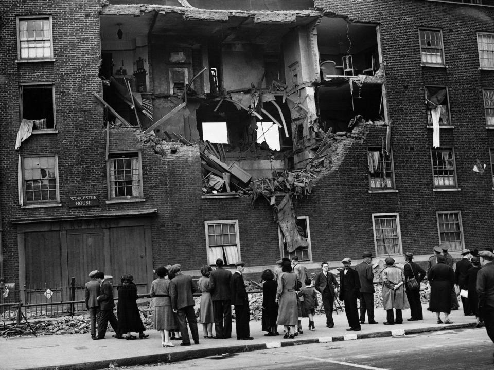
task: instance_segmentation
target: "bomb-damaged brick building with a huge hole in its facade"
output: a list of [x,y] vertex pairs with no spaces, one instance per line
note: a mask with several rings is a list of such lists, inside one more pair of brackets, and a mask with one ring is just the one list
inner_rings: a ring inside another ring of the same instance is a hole
[[93,269],[146,292],[167,263],[490,246],[471,3],[3,2],[0,276],[29,300]]

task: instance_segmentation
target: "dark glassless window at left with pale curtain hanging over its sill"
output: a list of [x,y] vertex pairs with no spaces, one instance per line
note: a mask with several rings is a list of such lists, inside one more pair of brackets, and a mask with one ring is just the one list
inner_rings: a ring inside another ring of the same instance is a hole
[[55,130],[54,101],[52,84],[21,85],[21,118],[34,121],[33,130]]

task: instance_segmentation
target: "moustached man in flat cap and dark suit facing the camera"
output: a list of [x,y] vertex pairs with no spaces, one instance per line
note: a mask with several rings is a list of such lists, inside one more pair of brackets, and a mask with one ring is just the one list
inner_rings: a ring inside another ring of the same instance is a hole
[[343,258],[341,261],[345,267],[340,271],[340,301],[345,303],[345,313],[348,320],[347,331],[360,331],[359,310],[357,297],[360,294],[359,273],[350,268],[351,259]]

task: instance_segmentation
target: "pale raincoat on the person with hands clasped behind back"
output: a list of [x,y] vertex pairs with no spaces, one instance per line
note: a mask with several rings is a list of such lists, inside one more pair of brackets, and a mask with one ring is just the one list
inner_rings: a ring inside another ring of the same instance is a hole
[[[396,266],[387,266],[381,272],[382,280],[382,304],[385,310],[392,308],[409,309],[407,295],[405,294],[405,276],[403,271]],[[395,285],[403,284],[393,290]]]

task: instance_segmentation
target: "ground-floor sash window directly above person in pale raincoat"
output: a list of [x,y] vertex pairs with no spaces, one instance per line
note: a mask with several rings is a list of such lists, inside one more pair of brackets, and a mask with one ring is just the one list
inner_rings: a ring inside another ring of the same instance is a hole
[[402,254],[398,213],[374,213],[372,220],[376,256]]

